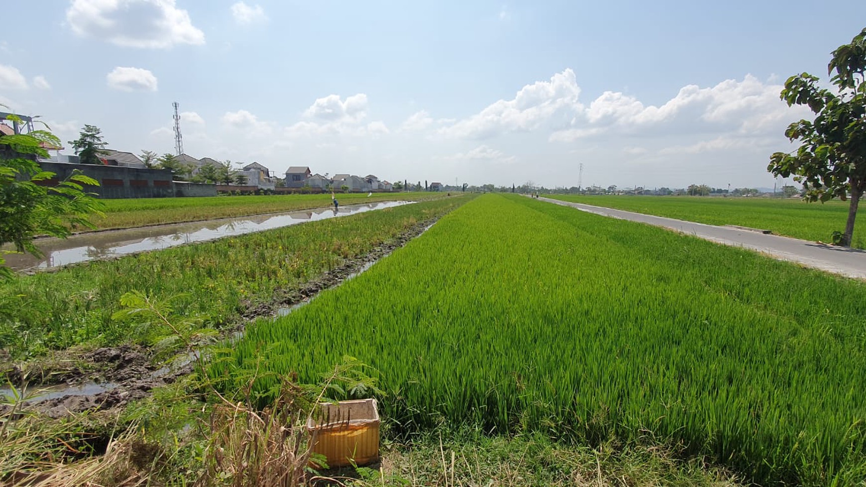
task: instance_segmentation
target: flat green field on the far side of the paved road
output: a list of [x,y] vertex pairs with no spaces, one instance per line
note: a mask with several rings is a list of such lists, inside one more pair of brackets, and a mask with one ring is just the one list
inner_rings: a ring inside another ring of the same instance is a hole
[[[803,240],[831,241],[848,218],[848,203],[770,198],[720,198],[701,196],[575,196],[547,195],[565,202],[624,209],[646,215],[697,221],[708,225],[741,225]],[[861,211],[860,213],[863,213]],[[866,248],[866,217],[857,218],[853,247]]]

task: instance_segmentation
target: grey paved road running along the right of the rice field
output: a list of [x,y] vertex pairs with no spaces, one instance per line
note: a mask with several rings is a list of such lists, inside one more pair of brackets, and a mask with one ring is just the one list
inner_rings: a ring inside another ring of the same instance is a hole
[[798,262],[803,266],[814,267],[856,279],[866,279],[866,252],[845,247],[832,247],[807,240],[792,239],[779,235],[766,235],[759,232],[732,227],[716,227],[693,221],[675,220],[662,216],[643,215],[620,209],[602,208],[583,203],[560,202],[550,198],[539,198],[563,206],[578,208],[596,215],[610,216],[622,220],[640,221],[656,227],[665,227],[694,235],[701,239],[721,244],[749,248],[766,253],[779,260]]

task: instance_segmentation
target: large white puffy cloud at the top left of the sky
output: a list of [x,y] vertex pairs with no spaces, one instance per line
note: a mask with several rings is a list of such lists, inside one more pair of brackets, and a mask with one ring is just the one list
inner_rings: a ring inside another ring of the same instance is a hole
[[77,35],[126,48],[204,44],[204,32],[175,0],[73,0],[66,20]]

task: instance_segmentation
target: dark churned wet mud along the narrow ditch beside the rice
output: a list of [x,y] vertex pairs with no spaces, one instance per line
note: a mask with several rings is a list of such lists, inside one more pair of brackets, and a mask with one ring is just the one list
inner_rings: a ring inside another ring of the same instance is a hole
[[[244,326],[255,318],[275,316],[281,310],[307,302],[319,292],[352,278],[395,249],[403,247],[409,240],[423,234],[436,220],[437,218],[433,218],[417,223],[391,242],[375,247],[365,255],[346,260],[342,266],[324,272],[299,289],[277,291],[273,299],[266,303],[255,305],[246,303],[247,310],[242,313],[242,319],[235,326],[224,328],[222,336],[242,333]],[[192,371],[190,359],[181,360],[181,363],[175,367],[165,367],[165,364],[154,361],[151,349],[137,345],[96,349],[79,356],[79,359],[76,361],[76,366],[63,370],[59,374],[42,375],[53,379],[49,383],[56,384],[57,381],[63,381],[68,385],[70,395],[63,395],[63,386],[57,386],[53,388],[55,392],[48,394],[48,399],[40,400],[40,393],[36,392],[26,400],[25,404],[17,408],[58,418],[84,411],[124,407],[132,400],[145,398],[153,388],[171,384],[177,381],[178,377],[190,374]],[[7,374],[7,378],[12,383],[20,384],[21,370],[13,369]],[[81,384],[93,386],[99,392],[78,394],[75,389],[81,389]],[[34,387],[30,388],[31,391],[34,389]],[[9,412],[10,407],[10,405],[0,404],[0,415]]]

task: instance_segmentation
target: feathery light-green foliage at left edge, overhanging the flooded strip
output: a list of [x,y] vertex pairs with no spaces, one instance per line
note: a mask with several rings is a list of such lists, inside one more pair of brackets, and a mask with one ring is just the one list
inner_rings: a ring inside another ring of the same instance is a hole
[[[14,115],[9,119],[21,122]],[[47,127],[46,127],[47,128]],[[59,146],[60,139],[48,130],[27,134],[0,135],[0,245],[11,243],[16,252],[42,256],[33,245],[36,235],[66,238],[76,227],[93,228],[91,215],[101,215],[102,202],[84,191],[84,185],[99,186],[80,170],[57,186],[42,186],[55,173],[43,171],[36,157],[48,157],[40,143]],[[13,273],[3,266],[0,252],[0,279]]]

